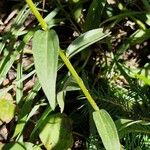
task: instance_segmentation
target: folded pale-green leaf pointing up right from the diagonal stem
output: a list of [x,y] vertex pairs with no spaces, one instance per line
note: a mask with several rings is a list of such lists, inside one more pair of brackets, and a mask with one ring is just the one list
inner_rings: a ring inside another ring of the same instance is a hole
[[109,34],[110,33],[103,33],[102,28],[90,30],[75,39],[67,48],[66,54],[71,58],[88,46],[107,37]]

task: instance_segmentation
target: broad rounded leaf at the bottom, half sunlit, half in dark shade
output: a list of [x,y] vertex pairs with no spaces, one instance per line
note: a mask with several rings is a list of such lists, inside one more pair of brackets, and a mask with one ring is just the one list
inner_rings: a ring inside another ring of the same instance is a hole
[[40,139],[48,150],[67,150],[72,147],[71,120],[65,114],[50,115],[42,125]]

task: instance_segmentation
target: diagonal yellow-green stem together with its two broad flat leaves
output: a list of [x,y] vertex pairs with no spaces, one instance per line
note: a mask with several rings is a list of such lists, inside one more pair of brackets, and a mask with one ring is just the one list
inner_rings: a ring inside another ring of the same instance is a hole
[[[31,8],[34,15],[37,17],[40,22],[42,28],[45,31],[36,31],[33,40],[33,56],[35,60],[35,68],[37,71],[37,75],[39,81],[42,85],[42,88],[49,100],[50,106],[52,109],[55,109],[56,105],[56,76],[57,76],[57,64],[58,64],[58,54],[63,60],[64,64],[67,66],[75,81],[83,91],[87,100],[91,104],[94,109],[94,121],[96,123],[96,127],[99,131],[99,134],[102,138],[103,144],[108,150],[120,149],[119,138],[117,135],[117,131],[115,128],[115,124],[110,118],[110,116],[102,110],[99,110],[97,104],[91,97],[87,88],[85,87],[82,79],[78,76],[75,69],[71,65],[69,59],[65,56],[63,51],[59,48],[58,37],[53,30],[48,29],[46,22],[40,16],[36,7],[32,3],[31,0],[26,1],[29,7]],[[41,43],[40,43],[41,42]],[[38,44],[40,43],[40,44]],[[44,62],[45,61],[45,62]],[[43,72],[43,68],[45,71]],[[104,115],[105,114],[105,115]],[[104,127],[100,127],[99,122],[104,124]],[[109,124],[110,127],[105,126],[105,124]],[[105,130],[106,128],[106,130]],[[108,132],[111,133],[112,137],[108,135]],[[107,136],[107,137],[106,137]],[[46,140],[47,141],[47,140]]]

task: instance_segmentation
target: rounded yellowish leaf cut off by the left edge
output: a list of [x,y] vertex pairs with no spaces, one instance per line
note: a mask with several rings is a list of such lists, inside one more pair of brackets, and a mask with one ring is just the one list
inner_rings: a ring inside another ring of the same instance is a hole
[[3,122],[9,123],[15,115],[15,105],[13,104],[13,101],[1,98],[0,109],[0,125]]

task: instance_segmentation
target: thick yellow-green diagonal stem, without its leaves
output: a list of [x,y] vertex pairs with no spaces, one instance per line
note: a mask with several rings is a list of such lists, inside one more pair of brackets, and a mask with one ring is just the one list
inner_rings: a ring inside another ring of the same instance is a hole
[[[27,4],[29,5],[29,7],[31,8],[33,14],[36,16],[36,18],[38,19],[39,23],[41,24],[43,30],[48,30],[48,26],[45,22],[45,20],[42,18],[42,16],[40,15],[40,13],[38,12],[38,10],[36,9],[34,3],[32,2],[32,0],[26,0]],[[75,71],[75,69],[73,68],[72,64],[70,63],[69,59],[66,57],[66,55],[63,53],[62,50],[59,50],[59,55],[61,57],[61,59],[63,60],[64,64],[67,66],[67,68],[69,69],[69,71],[71,72],[72,76],[74,77],[74,79],[76,80],[76,82],[78,83],[79,87],[81,88],[82,92],[84,93],[84,95],[86,96],[87,100],[89,101],[89,103],[91,104],[91,106],[93,107],[93,109],[95,111],[99,110],[99,107],[97,106],[97,104],[95,103],[94,99],[92,98],[92,96],[90,95],[89,91],[87,90],[87,88],[85,87],[82,79],[79,77],[79,75],[77,74],[77,72]]]

